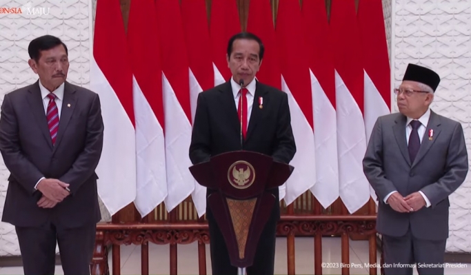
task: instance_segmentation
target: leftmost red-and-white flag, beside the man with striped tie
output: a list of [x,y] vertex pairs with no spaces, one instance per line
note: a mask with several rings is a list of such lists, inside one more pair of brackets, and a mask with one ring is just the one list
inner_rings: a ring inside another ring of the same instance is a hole
[[98,194],[114,215],[136,198],[132,71],[119,1],[97,2],[93,43],[90,89],[100,96],[105,125]]

